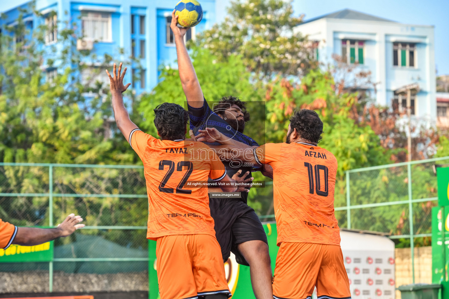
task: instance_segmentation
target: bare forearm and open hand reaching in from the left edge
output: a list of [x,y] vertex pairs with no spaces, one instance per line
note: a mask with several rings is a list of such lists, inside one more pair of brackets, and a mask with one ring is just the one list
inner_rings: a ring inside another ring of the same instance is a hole
[[84,224],[79,223],[81,221],[83,221],[83,218],[80,216],[70,214],[57,228],[18,227],[13,244],[33,246],[52,241],[56,238],[70,236],[75,230],[84,227]]

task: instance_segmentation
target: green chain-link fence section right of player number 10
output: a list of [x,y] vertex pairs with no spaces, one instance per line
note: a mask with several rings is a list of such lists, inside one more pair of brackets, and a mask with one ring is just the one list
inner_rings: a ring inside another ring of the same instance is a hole
[[431,208],[438,199],[432,165],[446,163],[449,157],[347,171],[335,189],[340,227],[387,233],[410,247],[415,282],[414,247],[430,246]]

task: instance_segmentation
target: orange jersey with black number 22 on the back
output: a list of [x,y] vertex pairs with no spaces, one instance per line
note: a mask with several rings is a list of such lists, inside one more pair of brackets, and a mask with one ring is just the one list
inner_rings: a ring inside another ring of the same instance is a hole
[[226,175],[215,152],[202,142],[160,140],[133,130],[129,143],[144,166],[149,215],[147,238],[175,234],[210,234],[215,237],[207,186]]

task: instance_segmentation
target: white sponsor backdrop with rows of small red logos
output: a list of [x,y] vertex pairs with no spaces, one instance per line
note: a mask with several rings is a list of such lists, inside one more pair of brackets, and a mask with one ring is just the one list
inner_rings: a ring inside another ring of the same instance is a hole
[[341,231],[353,299],[395,299],[394,243],[387,237]]

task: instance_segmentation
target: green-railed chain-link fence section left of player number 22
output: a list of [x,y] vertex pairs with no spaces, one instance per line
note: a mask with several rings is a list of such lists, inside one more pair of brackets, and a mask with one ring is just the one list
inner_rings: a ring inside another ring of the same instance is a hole
[[72,212],[86,227],[55,241],[53,262],[0,264],[4,291],[148,290],[142,166],[0,164],[4,221],[54,226]]

